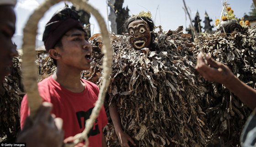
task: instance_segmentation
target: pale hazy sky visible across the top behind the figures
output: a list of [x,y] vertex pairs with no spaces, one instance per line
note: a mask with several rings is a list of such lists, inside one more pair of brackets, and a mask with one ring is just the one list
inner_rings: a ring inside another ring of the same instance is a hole
[[[15,11],[17,16],[16,35],[22,35],[22,29],[27,22],[28,17],[44,0],[18,0]],[[209,17],[213,20],[220,17],[222,10],[222,0],[185,0],[192,19],[198,10],[202,20],[201,25],[204,26],[204,14],[207,11]],[[223,0],[224,1],[224,0]],[[107,2],[106,0],[89,0],[89,3],[98,9],[107,23]],[[228,0],[234,14],[237,18],[244,16],[245,13],[251,11],[252,0]],[[128,6],[130,15],[138,14],[141,10],[149,10],[152,14],[155,25],[161,25],[163,30],[176,30],[179,25],[186,28],[189,25],[189,20],[185,17],[185,12],[182,9],[182,0],[124,0],[123,7]],[[64,3],[60,2],[54,5],[40,20],[38,25],[38,39],[42,40],[42,33],[47,21],[51,18],[54,12],[64,7]],[[94,25],[93,33],[99,33],[99,27],[96,20],[92,17],[90,20]],[[109,23],[110,25],[110,23]]]

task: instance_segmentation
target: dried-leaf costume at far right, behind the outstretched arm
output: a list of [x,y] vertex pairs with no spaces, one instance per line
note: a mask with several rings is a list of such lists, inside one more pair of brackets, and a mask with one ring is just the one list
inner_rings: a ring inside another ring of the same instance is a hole
[[[232,32],[204,34],[198,36],[203,51],[218,62],[229,66],[241,81],[256,88],[256,27],[245,28],[244,33]],[[193,47],[198,54],[199,47]],[[251,111],[237,96],[222,84],[206,81],[208,90],[202,106],[207,113],[207,126],[212,137],[222,145],[240,145],[239,138]],[[220,138],[220,139],[218,139]]]

